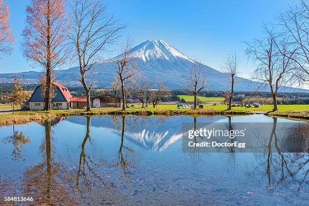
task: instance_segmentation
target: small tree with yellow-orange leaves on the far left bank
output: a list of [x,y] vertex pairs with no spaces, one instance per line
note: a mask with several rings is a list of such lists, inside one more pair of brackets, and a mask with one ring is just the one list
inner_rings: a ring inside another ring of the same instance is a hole
[[30,94],[26,91],[24,91],[22,86],[23,77],[14,76],[12,86],[13,86],[13,92],[10,94],[9,99],[13,102],[13,114],[15,110],[15,105],[21,105],[23,104],[26,99],[30,98]]

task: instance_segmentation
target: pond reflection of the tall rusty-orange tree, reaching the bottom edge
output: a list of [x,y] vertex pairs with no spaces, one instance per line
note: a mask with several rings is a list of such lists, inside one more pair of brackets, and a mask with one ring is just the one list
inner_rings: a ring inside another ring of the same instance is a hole
[[[50,122],[44,123],[45,140],[44,160],[41,163],[29,168],[24,173],[24,196],[33,197],[33,205],[54,205],[55,202],[61,202],[61,205],[72,205],[74,199],[71,197],[69,189],[59,183],[63,178],[65,171],[64,165],[54,161],[51,144],[51,125]],[[31,205],[31,204],[30,204]]]

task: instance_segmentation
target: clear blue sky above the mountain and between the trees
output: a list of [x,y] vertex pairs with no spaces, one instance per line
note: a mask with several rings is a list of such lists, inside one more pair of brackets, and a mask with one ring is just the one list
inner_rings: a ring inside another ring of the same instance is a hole
[[[42,71],[41,67],[27,62],[20,46],[25,27],[25,9],[30,0],[6,2],[16,43],[13,54],[0,59],[0,73]],[[245,78],[250,77],[253,65],[247,62],[243,54],[243,41],[263,35],[263,22],[275,22],[279,11],[298,3],[292,0],[105,1],[109,11],[127,25],[123,38],[131,37],[135,44],[162,39],[216,70],[220,70],[228,52],[236,51],[242,55],[239,76]]]

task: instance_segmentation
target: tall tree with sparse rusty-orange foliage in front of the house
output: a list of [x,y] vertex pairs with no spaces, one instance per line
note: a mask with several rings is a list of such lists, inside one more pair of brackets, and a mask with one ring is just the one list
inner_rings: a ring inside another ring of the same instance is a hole
[[23,33],[24,55],[45,70],[44,110],[50,110],[51,73],[67,57],[67,17],[64,0],[32,0]]

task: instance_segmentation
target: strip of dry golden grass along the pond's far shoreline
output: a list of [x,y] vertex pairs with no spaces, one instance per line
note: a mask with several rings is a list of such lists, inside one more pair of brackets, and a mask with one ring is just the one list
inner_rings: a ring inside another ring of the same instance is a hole
[[[126,111],[122,111],[120,108],[102,108],[95,109],[87,112],[85,110],[53,110],[47,111],[21,111],[15,114],[3,114],[0,115],[0,126],[12,125],[12,124],[24,124],[28,122],[42,122],[50,120],[56,117],[68,117],[68,116],[100,116],[100,115],[135,115],[135,116],[197,116],[197,115],[251,115],[251,114],[263,114],[260,111],[248,111],[248,110],[225,110],[225,109],[163,109],[163,108],[128,108]],[[278,110],[276,112],[270,112],[268,116],[284,117],[289,119],[299,119],[309,121],[308,110]]]

